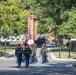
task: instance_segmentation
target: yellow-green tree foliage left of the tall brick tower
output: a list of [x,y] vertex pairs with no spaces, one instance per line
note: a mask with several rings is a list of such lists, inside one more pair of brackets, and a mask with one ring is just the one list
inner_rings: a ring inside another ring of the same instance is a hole
[[[21,0],[0,2],[0,31],[3,36],[19,35],[27,30],[29,12],[22,8]],[[26,29],[25,29],[26,28]]]

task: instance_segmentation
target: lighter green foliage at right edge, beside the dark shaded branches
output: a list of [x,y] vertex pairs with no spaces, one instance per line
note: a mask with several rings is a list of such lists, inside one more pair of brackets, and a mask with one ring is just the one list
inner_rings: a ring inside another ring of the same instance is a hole
[[60,26],[60,34],[76,37],[76,8],[73,7],[70,11],[65,11],[62,14],[63,23]]

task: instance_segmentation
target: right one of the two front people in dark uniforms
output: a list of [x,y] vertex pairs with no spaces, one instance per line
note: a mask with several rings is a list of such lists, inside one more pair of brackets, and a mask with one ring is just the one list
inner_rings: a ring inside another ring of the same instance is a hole
[[30,54],[32,53],[31,48],[29,47],[28,44],[26,44],[24,50],[23,50],[24,56],[25,56],[25,61],[26,61],[26,68],[29,67],[29,58]]

